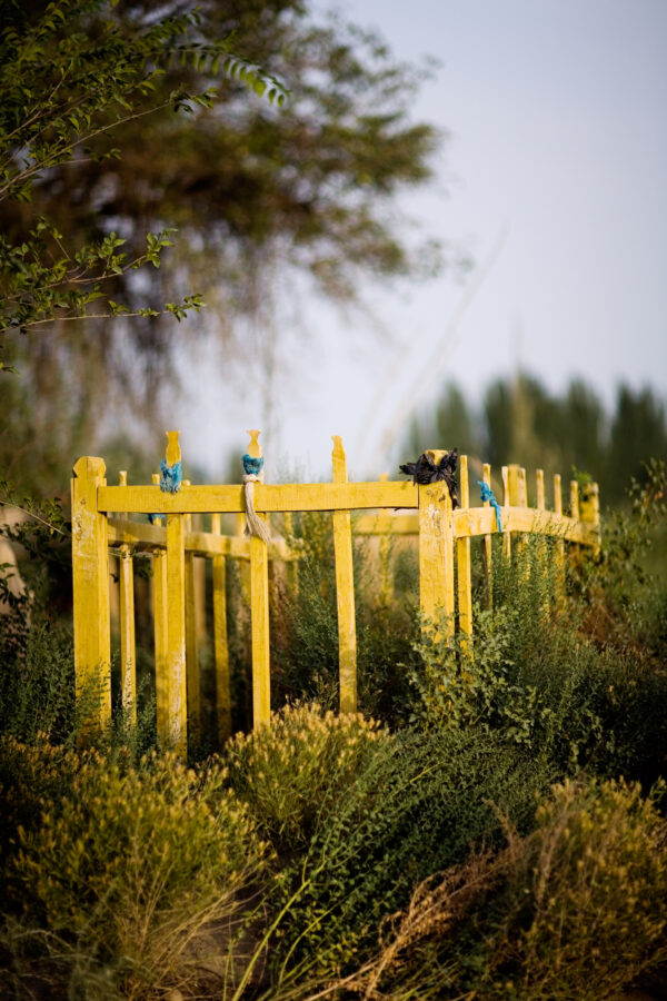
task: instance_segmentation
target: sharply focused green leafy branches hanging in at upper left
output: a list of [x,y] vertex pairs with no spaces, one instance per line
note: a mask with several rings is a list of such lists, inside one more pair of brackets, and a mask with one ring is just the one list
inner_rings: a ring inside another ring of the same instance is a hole
[[[210,107],[215,88],[159,93],[159,80],[175,58],[209,75],[229,73],[262,93],[270,82],[269,100],[282,100],[280,85],[226,43],[197,40],[197,14],[165,17],[128,32],[115,7],[110,0],[57,0],[32,17],[14,2],[3,11],[0,201],[30,204],[40,182],[52,181],[53,171],[66,165],[116,159],[108,137],[128,121],[165,107]],[[72,246],[70,234],[64,236],[37,206],[22,230],[19,238],[0,237],[0,333],[26,333],[56,319],[158,315],[150,307],[121,306],[106,289],[115,276],[146,264],[159,267],[173,229],[148,234],[146,249],[131,255],[120,250],[127,240],[115,230]],[[201,306],[200,296],[189,296],[168,304],[166,311],[181,319]]]

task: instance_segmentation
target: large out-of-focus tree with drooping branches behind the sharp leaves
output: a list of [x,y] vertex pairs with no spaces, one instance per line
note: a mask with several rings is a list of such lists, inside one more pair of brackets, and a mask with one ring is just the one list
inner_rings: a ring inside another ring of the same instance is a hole
[[[92,311],[115,313],[122,304],[119,313],[142,313],[129,321],[59,321],[39,333],[28,327],[24,337],[11,338],[6,360],[21,376],[3,386],[0,466],[11,463],[14,475],[23,472],[28,445],[32,466],[51,469],[59,457],[68,463],[119,399],[131,400],[135,418],[155,417],[177,386],[173,357],[183,337],[208,334],[222,343],[227,361],[243,351],[257,360],[263,345],[248,344],[249,328],[239,328],[238,319],[263,320],[278,286],[306,276],[325,296],[350,303],[362,274],[415,277],[437,267],[437,248],[410,245],[388,211],[400,189],[430,176],[429,156],[440,137],[409,118],[426,70],[397,62],[381,39],[339,19],[318,23],[302,0],[203,0],[196,22],[188,10],[179,0],[159,7],[150,0],[8,6],[4,50],[11,50],[11,31],[22,37],[39,24],[46,32],[46,73],[20,81],[42,102],[60,86],[63,51],[84,79],[82,60],[96,46],[109,47],[110,38],[130,69],[128,49],[141,39],[155,42],[155,51],[139,46],[148,69],[131,93],[122,78],[111,80],[110,105],[92,108],[96,128],[77,107],[66,119],[74,143],[87,133],[87,151],[77,145],[73,155],[31,176],[29,201],[0,200],[8,248],[21,247],[40,218],[50,227],[46,255],[63,234],[71,257],[117,235],[125,242],[106,258],[104,304],[111,306]],[[165,23],[177,26],[171,34],[161,31]],[[80,40],[78,49],[72,38]],[[221,78],[227,42],[242,53],[243,73]],[[257,92],[239,80],[245,75]],[[147,77],[150,89],[142,91]],[[6,60],[3,91],[11,86],[17,67]],[[290,91],[282,107],[266,100],[267,90],[280,86]],[[157,110],[146,116],[148,107]],[[175,115],[175,107],[190,113]],[[10,146],[11,127],[4,122]],[[166,245],[169,235],[160,235],[170,229],[178,236],[170,239],[176,246],[166,265],[150,274],[133,268],[147,257],[147,232]],[[118,267],[113,254],[121,251],[127,257]],[[177,331],[169,307],[160,304],[192,293],[209,309]],[[43,456],[36,454],[40,449]],[[47,493],[54,488],[52,480],[41,483]]]

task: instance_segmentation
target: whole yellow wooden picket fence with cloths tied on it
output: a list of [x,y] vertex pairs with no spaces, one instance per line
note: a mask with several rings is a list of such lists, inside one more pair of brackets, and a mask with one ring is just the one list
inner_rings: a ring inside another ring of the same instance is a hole
[[[173,446],[175,433],[170,435]],[[256,437],[255,437],[256,440]],[[441,450],[432,450],[437,462]],[[250,562],[250,624],[252,645],[253,725],[270,715],[269,559],[298,558],[285,539],[267,545],[258,537],[223,536],[220,515],[245,512],[241,485],[191,485],[178,493],[162,493],[159,477],[150,485],[133,486],[120,475],[118,486],[108,486],[104,462],[80,458],[72,479],[72,563],[74,593],[74,663],[77,688],[101,680],[100,717],[111,715],[111,640],[109,603],[109,547],[119,558],[119,620],[122,700],[131,711],[136,696],[135,606],[132,554],[145,552],[153,561],[153,631],[158,734],[185,751],[188,730],[200,726],[200,678],[197,628],[195,561],[212,561],[212,640],[216,665],[218,734],[230,732],[229,655],[227,648],[226,558]],[[552,509],[546,507],[545,478],[536,475],[536,506],[528,506],[526,470],[518,465],[501,469],[502,551],[511,552],[512,537],[529,533],[557,538],[556,561],[565,576],[565,544],[599,546],[598,488],[590,484],[579,498],[578,485],[570,484],[569,515],[563,513],[560,477],[552,483]],[[490,486],[491,468],[484,466],[482,479]],[[471,507],[468,457],[459,462],[461,506],[452,511],[444,483],[416,486],[409,482],[380,479],[349,483],[340,437],[334,438],[332,482],[315,484],[255,485],[255,508],[262,517],[281,512],[331,512],[338,607],[340,711],[357,708],[357,637],[352,568],[352,511],[367,512],[355,525],[361,535],[382,539],[385,568],[387,539],[416,535],[419,541],[419,595],[427,618],[444,615],[454,632],[455,614],[464,648],[471,644],[472,596],[470,541],[480,537],[486,554],[485,572],[491,583],[491,537],[498,532],[496,513],[488,502]],[[368,512],[376,512],[369,514]],[[397,512],[402,512],[398,514]],[[412,513],[406,513],[412,512]],[[159,515],[166,525],[129,521],[130,514]],[[211,515],[211,531],[193,531],[191,516]],[[381,551],[382,552],[382,551]],[[385,571],[385,577],[387,573]],[[385,589],[389,587],[385,581]],[[202,609],[200,609],[201,613]]]

